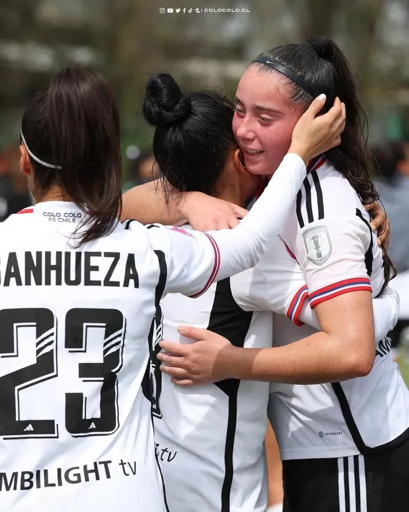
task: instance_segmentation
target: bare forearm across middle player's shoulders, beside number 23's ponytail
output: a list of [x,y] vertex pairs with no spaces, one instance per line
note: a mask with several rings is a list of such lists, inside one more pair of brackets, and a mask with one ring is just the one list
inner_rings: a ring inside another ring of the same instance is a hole
[[164,191],[159,180],[138,185],[122,196],[121,221],[135,219],[142,224],[158,222],[167,225],[179,225],[186,222],[181,214],[179,202],[170,201],[166,204]]

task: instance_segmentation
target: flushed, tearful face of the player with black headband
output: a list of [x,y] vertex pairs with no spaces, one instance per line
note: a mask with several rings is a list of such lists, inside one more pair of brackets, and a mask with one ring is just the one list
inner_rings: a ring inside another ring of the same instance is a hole
[[291,135],[303,114],[289,98],[279,73],[248,68],[236,92],[233,132],[246,168],[253,174],[274,174],[291,144]]

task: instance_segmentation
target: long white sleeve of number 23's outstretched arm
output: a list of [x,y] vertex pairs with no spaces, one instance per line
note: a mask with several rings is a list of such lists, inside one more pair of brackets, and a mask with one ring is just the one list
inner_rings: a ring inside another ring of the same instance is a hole
[[234,229],[201,233],[148,227],[151,246],[166,256],[164,293],[197,297],[214,281],[254,267],[278,236],[305,174],[301,157],[287,154],[255,206]]

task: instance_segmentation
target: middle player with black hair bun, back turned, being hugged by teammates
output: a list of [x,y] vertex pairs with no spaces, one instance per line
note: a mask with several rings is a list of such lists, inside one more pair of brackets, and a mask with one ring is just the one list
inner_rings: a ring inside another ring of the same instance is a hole
[[[187,108],[180,108],[180,100]],[[249,174],[240,163],[231,124],[233,105],[226,98],[209,91],[183,95],[169,75],[159,74],[148,80],[143,112],[155,126],[154,153],[166,179],[165,195],[172,195],[171,187],[199,190],[240,205],[256,195],[260,176]],[[171,113],[172,118],[162,113]],[[161,302],[157,323],[163,315],[163,332],[158,331],[152,347],[153,415],[171,510],[264,512],[266,508],[263,440],[268,384],[234,380],[199,392],[174,389],[169,377],[161,376],[156,361],[162,334],[178,339],[176,327],[187,318],[197,327],[225,333],[235,346],[271,347],[270,311],[286,313],[293,295],[306,285],[300,267],[278,238],[257,272],[266,269],[273,293],[267,303],[266,294],[264,300],[256,300],[255,312],[242,308],[248,309],[248,298],[236,292],[237,285],[252,279],[248,272],[213,285],[199,301],[170,294]],[[388,299],[374,302],[375,307],[379,303],[376,317],[384,323],[383,333],[378,334],[382,337],[391,328],[394,311]],[[307,309],[306,303],[294,318],[308,317]],[[311,314],[309,318],[312,322]],[[312,325],[317,325],[316,319]]]

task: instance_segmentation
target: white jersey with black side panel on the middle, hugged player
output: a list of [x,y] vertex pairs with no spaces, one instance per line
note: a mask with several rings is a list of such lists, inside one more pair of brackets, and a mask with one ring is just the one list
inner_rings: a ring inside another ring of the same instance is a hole
[[[228,379],[194,388],[174,386],[169,375],[158,369],[156,354],[162,337],[191,343],[177,332],[183,324],[210,329],[236,347],[271,347],[271,311],[285,313],[300,288],[297,280],[285,281],[285,276],[292,275],[294,267],[299,266],[279,238],[268,258],[263,258],[268,266],[271,254],[277,262],[277,270],[269,274],[271,294],[265,293],[264,269],[255,267],[213,284],[194,301],[180,294],[169,294],[161,301],[151,375],[156,450],[170,510],[266,509],[264,438],[268,383]],[[302,280],[301,269],[299,275]],[[249,283],[252,290],[257,288],[258,294],[264,295],[268,305],[260,307],[261,301],[259,305],[252,302]],[[257,311],[253,312],[253,305]]]

